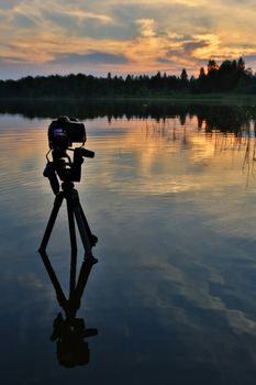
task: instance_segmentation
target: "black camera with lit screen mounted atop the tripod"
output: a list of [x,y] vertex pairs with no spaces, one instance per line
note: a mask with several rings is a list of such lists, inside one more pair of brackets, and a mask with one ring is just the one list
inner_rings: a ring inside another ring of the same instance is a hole
[[86,143],[85,124],[75,118],[59,117],[48,127],[48,144],[51,150],[67,150],[73,143]]

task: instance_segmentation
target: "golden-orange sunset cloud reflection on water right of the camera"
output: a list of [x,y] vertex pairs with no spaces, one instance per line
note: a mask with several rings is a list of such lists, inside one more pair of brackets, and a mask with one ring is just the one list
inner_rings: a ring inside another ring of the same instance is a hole
[[[105,134],[101,136],[101,132]],[[102,131],[98,128],[97,139],[91,138],[90,143],[98,152],[111,153],[119,148],[116,165],[110,168],[105,164],[100,169],[100,179],[111,191],[125,189],[131,194],[140,191],[142,195],[158,196],[200,194],[212,184],[229,185],[242,176],[246,143],[236,143],[233,134],[207,134],[203,129],[198,132],[193,117],[187,117],[182,127],[177,118],[166,119],[165,123],[112,121],[110,136],[107,134],[108,128],[102,128]],[[129,175],[134,167],[136,173],[131,184]],[[241,169],[238,175],[237,168]],[[119,169],[122,169],[122,174]]]

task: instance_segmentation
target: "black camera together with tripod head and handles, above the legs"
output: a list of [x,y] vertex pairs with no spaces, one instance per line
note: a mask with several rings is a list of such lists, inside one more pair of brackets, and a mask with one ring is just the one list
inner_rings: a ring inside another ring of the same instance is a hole
[[[84,123],[75,118],[59,117],[48,127],[49,151],[46,154],[47,164],[43,175],[49,179],[55,195],[59,191],[58,178],[64,183],[80,182],[84,157],[94,157],[94,152],[84,147],[86,142]],[[81,143],[80,147],[70,147],[74,142]],[[73,152],[73,160],[67,151]],[[48,154],[52,153],[52,161]]]

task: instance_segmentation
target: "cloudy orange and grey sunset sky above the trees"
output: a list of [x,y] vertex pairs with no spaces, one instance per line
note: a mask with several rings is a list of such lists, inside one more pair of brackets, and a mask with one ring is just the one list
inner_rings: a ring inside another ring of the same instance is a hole
[[0,0],[0,79],[199,74],[243,56],[256,72],[256,0]]

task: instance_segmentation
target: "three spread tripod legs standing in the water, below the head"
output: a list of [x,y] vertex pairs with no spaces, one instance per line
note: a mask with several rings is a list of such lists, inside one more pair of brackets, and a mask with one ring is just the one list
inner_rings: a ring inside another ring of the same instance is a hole
[[[62,190],[56,195],[54,200],[54,207],[49,216],[49,220],[40,246],[40,252],[44,252],[47,248],[48,240],[51,238],[58,211],[63,204],[64,198],[67,202],[67,215],[68,215],[68,227],[71,251],[77,251],[77,238],[76,238],[76,227],[80,233],[81,242],[85,249],[85,257],[96,260],[92,255],[91,248],[96,245],[98,238],[91,233],[86,215],[81,208],[78,191],[74,188],[74,183],[66,180],[62,184]],[[97,260],[96,260],[97,261]]]

